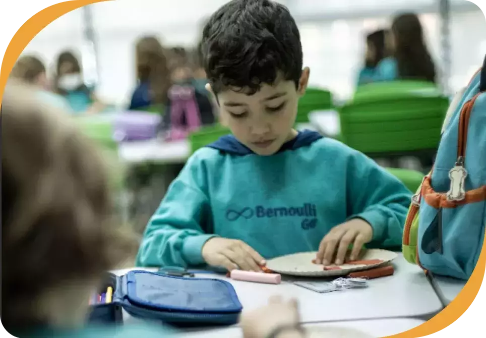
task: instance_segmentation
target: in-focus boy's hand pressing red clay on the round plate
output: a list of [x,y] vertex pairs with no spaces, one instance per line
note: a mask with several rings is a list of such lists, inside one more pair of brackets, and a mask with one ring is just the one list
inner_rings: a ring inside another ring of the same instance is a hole
[[350,244],[353,245],[353,249],[349,259],[355,260],[362,246],[371,242],[372,238],[373,228],[367,221],[354,218],[342,223],[324,236],[319,245],[316,264],[343,264]]

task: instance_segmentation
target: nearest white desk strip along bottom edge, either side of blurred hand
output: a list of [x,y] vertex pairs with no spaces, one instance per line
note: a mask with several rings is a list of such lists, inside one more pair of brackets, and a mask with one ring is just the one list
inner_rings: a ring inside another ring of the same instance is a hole
[[[385,337],[408,331],[425,321],[410,318],[395,319],[373,319],[373,320],[352,320],[343,322],[327,322],[305,324],[304,327],[309,329],[326,329],[330,327],[343,327],[359,330],[372,337]],[[188,338],[241,338],[242,332],[239,327],[203,329],[203,330],[186,330],[184,333]],[[328,335],[332,337],[331,335]],[[353,338],[359,338],[356,335],[350,335]]]

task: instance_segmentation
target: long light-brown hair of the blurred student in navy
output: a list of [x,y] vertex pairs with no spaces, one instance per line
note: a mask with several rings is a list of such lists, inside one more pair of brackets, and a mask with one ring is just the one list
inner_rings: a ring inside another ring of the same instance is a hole
[[150,83],[154,103],[165,104],[171,81],[164,48],[156,37],[145,36],[137,41],[135,49],[137,79]]

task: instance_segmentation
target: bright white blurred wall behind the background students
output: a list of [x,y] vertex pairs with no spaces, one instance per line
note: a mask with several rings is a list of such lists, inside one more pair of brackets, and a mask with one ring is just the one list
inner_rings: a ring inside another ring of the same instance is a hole
[[[437,0],[281,0],[299,24],[304,62],[311,67],[311,84],[329,87],[338,98],[354,89],[363,58],[366,31],[389,24],[400,10],[417,10],[432,53],[440,66],[440,20]],[[165,45],[192,46],[203,21],[226,0],[115,0],[91,5],[98,41],[98,95],[126,103],[135,85],[134,42],[155,34]],[[486,14],[472,0],[452,0],[452,77],[457,88],[482,62],[486,53]],[[458,11],[464,8],[469,12]],[[472,12],[471,12],[472,10]],[[63,49],[89,55],[83,44],[82,10],[47,26],[27,46],[51,64]],[[86,59],[85,59],[86,61]],[[84,63],[86,66],[86,62]],[[88,72],[89,73],[89,72]]]

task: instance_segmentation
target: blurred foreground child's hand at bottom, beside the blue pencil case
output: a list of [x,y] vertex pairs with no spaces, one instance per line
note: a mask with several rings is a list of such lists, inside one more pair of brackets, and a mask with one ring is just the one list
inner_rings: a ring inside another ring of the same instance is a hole
[[[245,338],[264,338],[279,326],[297,325],[298,322],[299,313],[295,300],[284,301],[280,297],[271,297],[267,306],[244,312],[239,324]],[[301,336],[293,331],[284,333],[289,334],[289,337]]]

